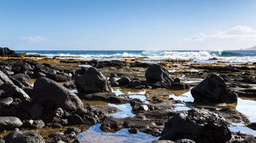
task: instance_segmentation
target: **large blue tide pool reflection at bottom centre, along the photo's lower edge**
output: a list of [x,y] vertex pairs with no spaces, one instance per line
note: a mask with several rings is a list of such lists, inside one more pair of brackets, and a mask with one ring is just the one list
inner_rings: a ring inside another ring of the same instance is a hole
[[121,129],[116,133],[105,133],[100,130],[97,124],[89,128],[88,131],[80,133],[78,139],[80,142],[153,142],[158,137],[150,134],[144,134],[138,131],[138,134],[129,134],[128,129]]

